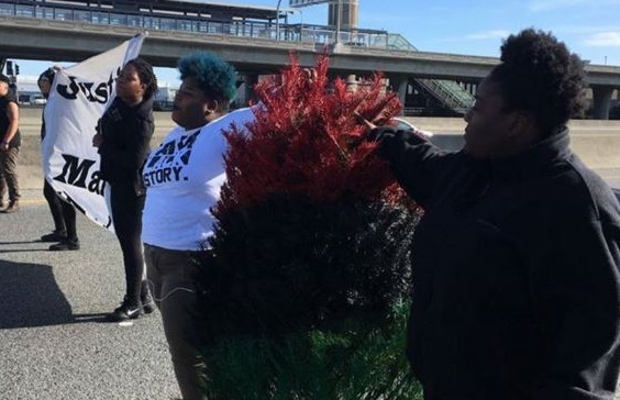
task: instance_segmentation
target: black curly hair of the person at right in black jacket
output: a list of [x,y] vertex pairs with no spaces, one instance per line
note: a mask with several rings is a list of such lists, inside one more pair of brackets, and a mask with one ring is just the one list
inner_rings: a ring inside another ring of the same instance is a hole
[[510,35],[500,60],[489,79],[500,85],[507,111],[531,112],[552,134],[584,110],[584,63],[553,34],[527,29]]

